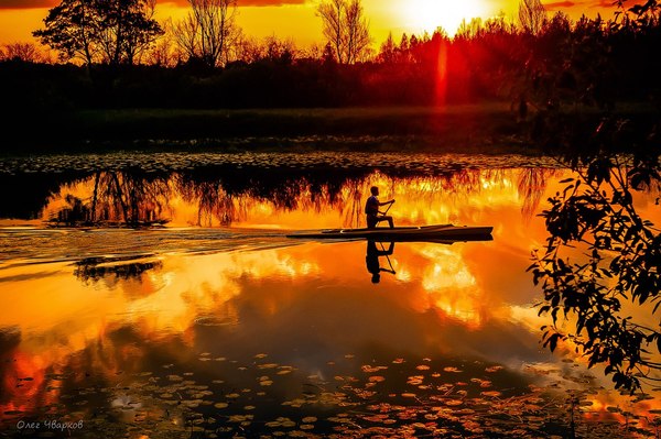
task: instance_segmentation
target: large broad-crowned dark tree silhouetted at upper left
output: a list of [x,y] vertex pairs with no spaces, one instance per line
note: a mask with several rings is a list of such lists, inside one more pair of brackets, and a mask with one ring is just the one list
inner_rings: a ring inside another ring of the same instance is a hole
[[132,65],[163,34],[154,10],[155,0],[62,0],[33,35],[62,61]]

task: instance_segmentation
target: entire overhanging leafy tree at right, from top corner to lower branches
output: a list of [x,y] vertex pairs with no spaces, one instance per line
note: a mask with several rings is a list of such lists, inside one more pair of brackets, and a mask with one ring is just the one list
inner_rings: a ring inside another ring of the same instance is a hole
[[[610,33],[610,42],[650,34],[659,23],[655,4],[649,1],[628,9],[620,22],[599,33]],[[593,37],[588,24],[581,23],[577,31]],[[605,53],[613,47],[599,47],[594,42],[589,47],[592,54],[602,52],[593,62],[604,66]],[[581,58],[570,61],[576,66]],[[582,74],[586,73],[597,76],[583,68]],[[570,102],[587,99],[603,109],[603,119],[590,136],[566,135],[553,112],[541,119],[546,128],[554,127],[561,133],[551,138],[550,146],[562,153],[577,177],[562,182],[565,188],[550,198],[551,207],[542,213],[548,245],[541,255],[535,253],[530,271],[544,295],[540,315],[552,317],[552,325],[543,328],[544,345],[555,350],[560,340],[573,342],[589,366],[604,363],[616,387],[633,391],[652,378],[652,371],[661,370],[655,360],[661,353],[661,330],[648,323],[659,321],[661,233],[639,213],[637,202],[641,191],[658,193],[661,188],[659,125],[653,120],[636,125],[614,116],[594,77],[586,75],[585,80],[574,76],[573,95],[566,98]],[[654,84],[650,78],[637,86],[653,95]],[[557,92],[557,87],[550,90]],[[574,248],[584,254],[572,259],[568,253],[575,253]],[[565,330],[566,326],[571,329]]]

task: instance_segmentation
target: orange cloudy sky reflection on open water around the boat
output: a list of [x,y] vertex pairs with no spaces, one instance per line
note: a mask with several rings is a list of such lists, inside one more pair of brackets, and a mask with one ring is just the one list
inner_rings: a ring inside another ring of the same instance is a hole
[[[530,363],[562,365],[538,342],[543,323],[525,273],[530,251],[544,242],[543,221],[522,217],[528,201],[516,171],[474,177],[472,190],[379,174],[362,183],[364,189],[379,184],[384,199],[398,199],[400,223],[495,228],[491,242],[398,243],[390,256],[397,274],[384,273],[379,285],[370,282],[364,242],[262,250],[239,242],[227,252],[164,253],[150,256],[162,265],[139,278],[82,281],[67,263],[7,263],[0,271],[0,353],[17,361],[2,365],[8,392],[0,408],[45,404],[47,398],[33,396],[51,383],[47,373],[86,370],[112,381],[118,371],[150,371],[201,352],[266,352],[310,374],[346,354],[382,351],[483,360],[514,371]],[[541,199],[555,190],[554,182],[541,188]],[[267,205],[251,205],[242,226],[337,226],[347,208],[322,206],[312,217],[305,207],[275,212]],[[116,233],[118,250],[131,233]],[[156,355],[156,347],[166,353]],[[34,380],[13,385],[28,376]],[[46,395],[56,399],[56,393]]]

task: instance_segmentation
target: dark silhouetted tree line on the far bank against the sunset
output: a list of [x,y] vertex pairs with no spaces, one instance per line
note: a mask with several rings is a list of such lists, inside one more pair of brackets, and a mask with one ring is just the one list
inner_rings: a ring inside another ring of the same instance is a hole
[[[503,15],[464,21],[454,36],[392,34],[372,48],[360,0],[325,0],[324,45],[257,41],[236,22],[236,0],[188,0],[159,23],[153,0],[62,0],[30,44],[6,45],[0,88],[19,107],[337,107],[509,100],[521,119],[563,102],[613,106],[646,99],[660,73],[659,9],[620,1],[614,19],[521,0]],[[77,61],[78,63],[75,63]]]

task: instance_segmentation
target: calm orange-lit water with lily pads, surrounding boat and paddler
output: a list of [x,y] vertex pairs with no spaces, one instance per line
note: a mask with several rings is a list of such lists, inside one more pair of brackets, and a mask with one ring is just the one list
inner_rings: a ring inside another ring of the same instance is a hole
[[[573,419],[582,437],[653,432],[655,399],[539,343],[525,270],[566,176],[518,156],[6,158],[0,428],[566,437]],[[372,185],[397,199],[398,224],[494,226],[494,240],[394,243],[379,259],[394,273],[373,284],[366,242],[285,238],[362,224]]]

